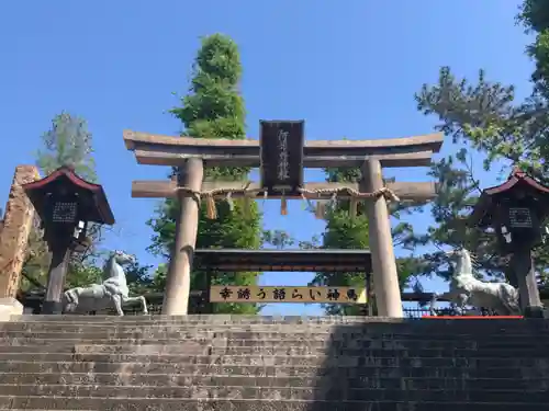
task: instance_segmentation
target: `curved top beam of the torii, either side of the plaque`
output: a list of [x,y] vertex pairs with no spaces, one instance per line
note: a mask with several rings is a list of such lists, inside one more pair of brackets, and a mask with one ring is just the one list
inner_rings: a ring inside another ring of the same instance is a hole
[[[444,141],[441,133],[371,140],[309,140],[303,167],[359,167],[376,157],[383,167],[422,167],[430,163]],[[170,137],[124,130],[124,142],[139,164],[179,165],[200,157],[206,167],[259,167],[260,144],[255,139]]]

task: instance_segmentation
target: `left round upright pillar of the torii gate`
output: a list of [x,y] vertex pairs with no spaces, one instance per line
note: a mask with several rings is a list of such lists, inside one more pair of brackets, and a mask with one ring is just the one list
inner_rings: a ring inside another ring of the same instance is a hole
[[[190,158],[179,170],[178,185],[200,192],[204,165],[202,159]],[[171,254],[163,313],[186,316],[189,310],[192,258],[197,244],[200,216],[200,199],[179,192],[179,215],[176,220],[176,243]]]

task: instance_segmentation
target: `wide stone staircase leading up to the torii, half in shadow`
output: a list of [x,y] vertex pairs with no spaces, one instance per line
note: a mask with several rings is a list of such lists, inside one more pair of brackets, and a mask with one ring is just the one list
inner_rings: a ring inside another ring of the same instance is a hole
[[549,410],[546,320],[23,316],[0,410]]

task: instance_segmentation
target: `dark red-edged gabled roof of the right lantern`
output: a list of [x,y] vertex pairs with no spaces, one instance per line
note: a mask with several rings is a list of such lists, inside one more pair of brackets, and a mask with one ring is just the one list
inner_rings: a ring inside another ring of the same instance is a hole
[[[469,217],[469,226],[488,227],[492,225],[494,207],[500,205],[500,199],[507,198],[513,193],[525,193],[533,196],[533,206],[539,207],[540,203],[549,212],[549,187],[515,167],[507,181],[500,185],[482,191]],[[546,212],[547,213],[547,212]]]

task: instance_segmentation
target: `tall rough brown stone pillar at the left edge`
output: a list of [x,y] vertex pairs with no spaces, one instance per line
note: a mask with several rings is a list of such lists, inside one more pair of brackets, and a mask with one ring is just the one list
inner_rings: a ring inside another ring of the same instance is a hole
[[14,298],[21,279],[34,207],[22,185],[40,179],[34,165],[19,165],[0,230],[0,298]]

